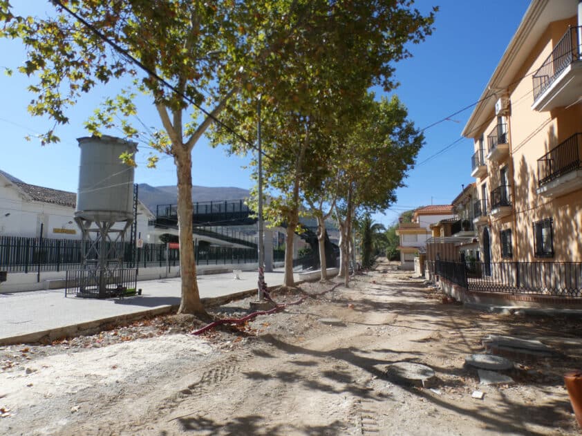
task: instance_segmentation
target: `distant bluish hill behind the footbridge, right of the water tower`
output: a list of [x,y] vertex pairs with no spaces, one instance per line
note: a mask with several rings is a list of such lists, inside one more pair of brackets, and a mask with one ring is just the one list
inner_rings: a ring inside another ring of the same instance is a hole
[[[138,196],[142,203],[149,210],[156,214],[157,205],[176,205],[178,202],[178,187],[176,186],[158,186],[153,187],[147,183],[140,183]],[[248,189],[235,187],[192,187],[192,200],[194,202],[202,201],[220,201],[220,200],[240,200],[249,196]]]

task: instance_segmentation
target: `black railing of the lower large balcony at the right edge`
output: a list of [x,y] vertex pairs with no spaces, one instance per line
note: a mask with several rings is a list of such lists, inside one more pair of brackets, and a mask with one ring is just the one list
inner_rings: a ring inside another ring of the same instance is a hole
[[582,133],[576,133],[538,159],[538,186],[582,168]]

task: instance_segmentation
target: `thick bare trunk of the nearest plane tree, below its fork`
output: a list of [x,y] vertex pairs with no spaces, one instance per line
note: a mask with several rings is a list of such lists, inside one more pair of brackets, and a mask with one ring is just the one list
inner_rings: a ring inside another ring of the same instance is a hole
[[[177,148],[177,147],[176,147]],[[196,281],[196,259],[192,234],[192,159],[187,151],[174,158],[178,174],[178,238],[180,240],[180,275],[182,276],[182,300],[179,314],[206,315],[200,302]]]

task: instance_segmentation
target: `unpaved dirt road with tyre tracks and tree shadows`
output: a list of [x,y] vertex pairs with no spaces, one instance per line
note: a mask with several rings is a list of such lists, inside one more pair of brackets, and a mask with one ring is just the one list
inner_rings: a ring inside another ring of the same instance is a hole
[[[350,289],[205,337],[187,333],[187,317],[160,317],[63,343],[0,348],[0,434],[579,434],[561,376],[581,364],[580,322],[444,304],[408,276],[380,265]],[[242,315],[245,305],[215,312]],[[344,325],[318,321],[330,317]],[[566,357],[518,361],[509,371],[515,384],[480,386],[464,357],[491,333],[542,336]],[[434,389],[386,379],[395,361],[431,366]],[[477,389],[484,399],[471,399]]]

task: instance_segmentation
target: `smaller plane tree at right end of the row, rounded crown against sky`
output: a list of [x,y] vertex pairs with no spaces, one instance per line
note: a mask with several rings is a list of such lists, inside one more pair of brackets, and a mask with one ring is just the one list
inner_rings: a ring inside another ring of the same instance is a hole
[[356,213],[381,211],[395,202],[395,190],[404,186],[406,172],[413,168],[424,143],[424,135],[415,129],[396,95],[379,101],[368,95],[365,114],[344,143],[344,153],[337,162],[340,274],[346,285]]

